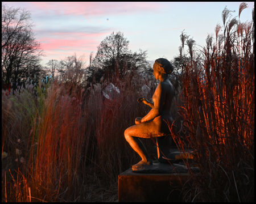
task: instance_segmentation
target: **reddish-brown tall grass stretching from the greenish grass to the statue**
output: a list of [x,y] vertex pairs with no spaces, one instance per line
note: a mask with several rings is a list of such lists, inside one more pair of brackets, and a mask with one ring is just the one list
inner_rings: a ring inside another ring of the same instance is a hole
[[47,189],[45,200],[78,199],[81,185],[90,185],[86,182],[92,173],[89,169],[102,184],[117,185],[119,173],[139,159],[123,136],[125,129],[134,125],[135,117],[148,111],[137,102],[141,96],[137,80],[116,84],[120,94],[113,100],[104,99],[100,84],[87,96],[81,90],[76,98],[69,97],[73,92],[65,94],[70,88],[64,84],[49,88],[32,175],[38,186]]

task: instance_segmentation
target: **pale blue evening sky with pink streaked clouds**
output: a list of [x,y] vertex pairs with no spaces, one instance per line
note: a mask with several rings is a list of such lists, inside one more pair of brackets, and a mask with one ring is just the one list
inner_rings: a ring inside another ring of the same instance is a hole
[[[76,53],[89,64],[90,53],[112,32],[122,32],[132,52],[147,50],[147,60],[172,60],[179,53],[184,31],[205,46],[205,39],[222,23],[225,6],[237,16],[242,2],[4,2],[31,12],[36,40],[45,56],[64,59]],[[251,21],[254,2],[241,12],[241,22]],[[213,35],[214,36],[214,35]]]

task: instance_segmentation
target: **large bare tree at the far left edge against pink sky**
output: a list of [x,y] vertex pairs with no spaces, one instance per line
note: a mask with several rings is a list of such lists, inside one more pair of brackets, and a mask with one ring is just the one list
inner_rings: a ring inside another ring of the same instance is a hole
[[40,66],[40,43],[32,32],[31,14],[20,8],[2,3],[2,81],[5,84],[27,77],[38,78]]

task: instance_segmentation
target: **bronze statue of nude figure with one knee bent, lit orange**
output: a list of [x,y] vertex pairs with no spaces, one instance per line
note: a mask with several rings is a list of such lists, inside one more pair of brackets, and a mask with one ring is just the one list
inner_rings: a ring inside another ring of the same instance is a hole
[[169,147],[166,144],[166,137],[171,137],[170,128],[174,121],[171,116],[171,103],[174,97],[174,87],[168,79],[168,74],[173,71],[173,67],[167,59],[159,58],[155,60],[153,65],[155,79],[160,82],[156,87],[152,97],[153,103],[140,97],[139,103],[149,105],[152,109],[143,118],[137,117],[135,125],[125,130],[125,139],[130,146],[135,150],[141,161],[133,165],[133,170],[142,169],[147,165],[152,164],[152,159],[148,155],[146,148],[139,138],[156,137],[156,145],[158,146],[158,160],[160,163],[167,163],[164,157],[167,157]]

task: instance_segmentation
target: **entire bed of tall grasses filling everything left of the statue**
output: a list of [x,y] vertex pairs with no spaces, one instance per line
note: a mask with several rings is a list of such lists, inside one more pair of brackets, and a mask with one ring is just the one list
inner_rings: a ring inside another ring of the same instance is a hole
[[110,82],[86,90],[79,69],[2,92],[2,202],[117,201],[118,175],[139,160],[123,133],[148,112],[137,102],[143,84],[113,79],[120,94],[108,100]]

